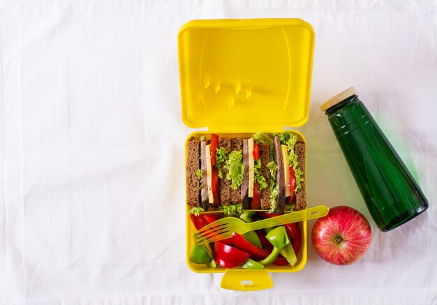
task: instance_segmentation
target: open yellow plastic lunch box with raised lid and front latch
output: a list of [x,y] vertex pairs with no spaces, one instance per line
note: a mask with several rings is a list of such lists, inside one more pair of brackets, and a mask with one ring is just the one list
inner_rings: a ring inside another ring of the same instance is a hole
[[[180,29],[178,50],[182,120],[192,128],[208,128],[195,133],[249,137],[308,120],[314,31],[303,20],[193,20]],[[306,264],[306,221],[300,226],[295,267],[213,269],[189,262],[195,228],[186,214],[188,267],[198,273],[225,272],[225,289],[272,288],[269,272],[295,272]]]

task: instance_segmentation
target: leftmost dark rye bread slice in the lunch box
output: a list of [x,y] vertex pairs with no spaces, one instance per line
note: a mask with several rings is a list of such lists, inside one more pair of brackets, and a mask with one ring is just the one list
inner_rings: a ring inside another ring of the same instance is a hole
[[191,137],[186,142],[186,165],[185,165],[185,185],[186,185],[186,204],[191,207],[198,207],[199,200],[199,149],[200,142]]

